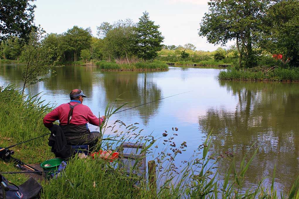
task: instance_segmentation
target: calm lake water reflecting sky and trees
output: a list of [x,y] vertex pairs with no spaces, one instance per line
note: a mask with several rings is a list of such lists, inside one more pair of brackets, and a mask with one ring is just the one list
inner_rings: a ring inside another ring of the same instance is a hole
[[[173,141],[186,141],[188,146],[177,156],[178,163],[192,156],[210,132],[211,153],[233,152],[237,164],[245,154],[249,159],[258,147],[246,174],[248,186],[267,176],[271,183],[274,165],[279,189],[287,191],[298,175],[298,83],[220,81],[217,75],[224,69],[217,67],[104,72],[97,67],[66,66],[55,70],[56,76],[28,87],[26,93],[42,92],[42,99],[59,105],[69,101],[71,90],[79,88],[88,96],[83,104],[95,115],[104,115],[106,104],[116,98],[122,99],[117,105],[131,102],[126,109],[191,91],[113,115],[111,123],[117,119],[127,125],[137,122],[144,129],[142,135],[156,138],[177,127]],[[22,66],[0,65],[0,84],[5,82],[22,87]],[[163,146],[162,141],[158,146]],[[229,163],[222,161],[222,172]]]

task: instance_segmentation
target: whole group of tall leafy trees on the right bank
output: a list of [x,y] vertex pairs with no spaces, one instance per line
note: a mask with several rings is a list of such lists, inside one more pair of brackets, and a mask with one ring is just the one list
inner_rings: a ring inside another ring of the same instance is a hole
[[299,66],[298,0],[211,0],[208,4],[199,36],[221,45],[235,40],[239,67],[257,66],[264,55],[274,55],[283,65]]

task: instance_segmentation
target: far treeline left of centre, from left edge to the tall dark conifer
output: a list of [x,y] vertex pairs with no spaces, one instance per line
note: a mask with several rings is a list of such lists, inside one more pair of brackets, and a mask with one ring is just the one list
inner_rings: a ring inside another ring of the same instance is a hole
[[[53,55],[52,61],[62,64],[78,60],[134,61],[152,60],[162,49],[164,37],[158,31],[159,25],[149,20],[144,12],[138,23],[131,19],[119,20],[112,24],[103,22],[97,27],[93,37],[90,28],[74,26],[66,32],[51,33],[42,38],[42,47]],[[4,59],[19,60],[26,42],[18,37],[10,37],[1,42]]]

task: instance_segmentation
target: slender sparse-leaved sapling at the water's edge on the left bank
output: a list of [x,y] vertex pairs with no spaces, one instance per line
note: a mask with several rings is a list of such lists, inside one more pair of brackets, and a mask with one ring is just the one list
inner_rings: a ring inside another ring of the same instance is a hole
[[37,30],[32,29],[29,34],[28,44],[23,47],[21,60],[25,67],[22,73],[24,82],[22,93],[29,85],[48,80],[45,76],[48,75],[56,63],[56,61],[52,61],[53,52],[42,47],[43,33],[45,32],[40,28]]

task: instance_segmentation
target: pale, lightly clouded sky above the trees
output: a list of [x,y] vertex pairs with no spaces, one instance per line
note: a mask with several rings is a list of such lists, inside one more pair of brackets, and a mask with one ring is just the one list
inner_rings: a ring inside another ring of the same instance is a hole
[[194,44],[196,50],[213,51],[220,46],[199,37],[200,22],[208,12],[208,0],[36,0],[35,24],[47,33],[63,33],[74,25],[90,27],[97,37],[97,26],[106,21],[131,18],[139,21],[144,11],[160,25],[165,45]]

